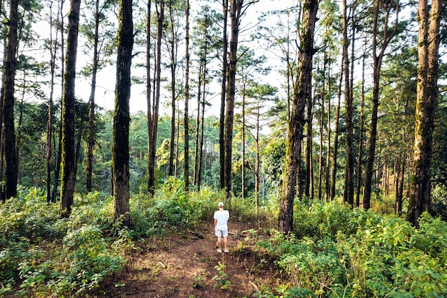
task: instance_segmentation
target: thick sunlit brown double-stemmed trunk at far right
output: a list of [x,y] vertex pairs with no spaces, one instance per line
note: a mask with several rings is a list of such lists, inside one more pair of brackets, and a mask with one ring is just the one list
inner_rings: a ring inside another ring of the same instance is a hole
[[[431,145],[433,120],[438,106],[438,57],[442,0],[426,0],[418,6],[418,85],[416,129],[413,147],[413,179],[406,219],[418,227],[418,217],[430,210]],[[430,13],[430,16],[428,15]]]

